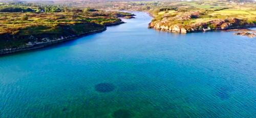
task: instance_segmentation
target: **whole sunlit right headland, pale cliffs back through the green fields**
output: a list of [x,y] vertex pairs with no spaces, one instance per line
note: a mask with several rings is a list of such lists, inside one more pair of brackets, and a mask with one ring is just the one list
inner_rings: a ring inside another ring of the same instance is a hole
[[190,1],[152,9],[149,28],[170,32],[202,32],[256,26],[256,5],[220,1]]

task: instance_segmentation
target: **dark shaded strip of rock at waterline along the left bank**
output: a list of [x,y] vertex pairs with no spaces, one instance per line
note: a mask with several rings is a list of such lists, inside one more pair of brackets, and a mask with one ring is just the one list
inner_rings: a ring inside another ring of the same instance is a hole
[[110,23],[110,24],[104,25],[104,27],[102,29],[82,33],[82,34],[79,34],[79,35],[72,35],[72,36],[65,36],[65,37],[61,36],[61,37],[59,37],[55,40],[48,40],[46,42],[38,42],[38,43],[35,43],[35,44],[27,44],[27,45],[24,45],[24,46],[18,47],[18,48],[3,49],[3,50],[0,50],[0,55],[6,55],[6,54],[11,54],[11,53],[16,53],[16,52],[23,52],[23,51],[29,51],[29,50],[44,48],[46,46],[50,46],[50,45],[53,45],[53,44],[57,44],[57,43],[61,43],[61,42],[69,41],[69,40],[74,40],[74,39],[77,39],[79,37],[87,36],[87,35],[90,35],[90,34],[104,32],[106,30],[106,27],[116,26],[116,25],[120,25],[122,23],[125,23],[125,22],[118,21],[118,22]]

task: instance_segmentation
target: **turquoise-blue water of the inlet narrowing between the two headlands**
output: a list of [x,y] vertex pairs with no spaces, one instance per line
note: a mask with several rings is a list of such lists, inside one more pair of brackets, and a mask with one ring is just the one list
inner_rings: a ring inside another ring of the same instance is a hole
[[0,57],[0,117],[256,117],[256,40],[151,17]]

